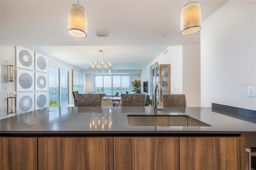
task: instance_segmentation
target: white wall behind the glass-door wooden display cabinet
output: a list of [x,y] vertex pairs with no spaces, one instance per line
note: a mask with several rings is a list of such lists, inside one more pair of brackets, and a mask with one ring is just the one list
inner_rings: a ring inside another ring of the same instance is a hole
[[[166,51],[166,50],[165,50]],[[148,95],[150,95],[150,66],[158,64],[170,64],[170,89],[171,94],[182,94],[182,46],[170,46],[168,52],[164,51],[151,61],[141,72],[141,81],[148,81]]]

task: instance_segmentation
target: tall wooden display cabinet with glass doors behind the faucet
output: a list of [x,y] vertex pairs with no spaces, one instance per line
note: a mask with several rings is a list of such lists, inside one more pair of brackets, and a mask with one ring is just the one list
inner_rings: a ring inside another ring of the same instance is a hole
[[157,83],[162,86],[163,94],[170,94],[170,64],[160,64],[153,68],[153,89],[152,94],[154,95],[154,88]]

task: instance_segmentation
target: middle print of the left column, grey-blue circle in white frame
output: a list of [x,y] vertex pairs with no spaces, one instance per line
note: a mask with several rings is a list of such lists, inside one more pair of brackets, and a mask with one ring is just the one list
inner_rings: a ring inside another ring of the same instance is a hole
[[17,69],[16,91],[34,91],[34,72]]

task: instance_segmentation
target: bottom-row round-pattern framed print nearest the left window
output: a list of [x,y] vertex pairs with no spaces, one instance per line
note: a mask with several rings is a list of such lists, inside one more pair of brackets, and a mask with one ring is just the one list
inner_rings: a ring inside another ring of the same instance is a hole
[[35,93],[35,110],[49,107],[48,93]]

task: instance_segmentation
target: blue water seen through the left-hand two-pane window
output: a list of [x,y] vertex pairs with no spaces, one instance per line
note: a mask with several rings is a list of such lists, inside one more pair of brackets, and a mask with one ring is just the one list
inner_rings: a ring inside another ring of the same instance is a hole
[[[66,97],[68,88],[61,88],[61,104],[68,104],[68,98]],[[58,88],[49,88],[49,101],[57,101],[59,103],[59,89]]]

